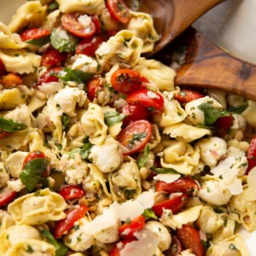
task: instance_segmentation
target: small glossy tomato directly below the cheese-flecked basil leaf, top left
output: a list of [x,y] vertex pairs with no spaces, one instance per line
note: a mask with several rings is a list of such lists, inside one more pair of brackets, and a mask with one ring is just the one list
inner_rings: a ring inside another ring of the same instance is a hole
[[58,50],[49,48],[42,55],[41,65],[47,68],[61,66],[61,62],[65,61],[66,55],[60,53]]

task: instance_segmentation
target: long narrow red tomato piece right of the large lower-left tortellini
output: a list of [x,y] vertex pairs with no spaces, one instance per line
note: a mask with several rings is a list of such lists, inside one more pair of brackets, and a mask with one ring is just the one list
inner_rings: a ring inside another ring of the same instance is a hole
[[73,228],[73,225],[80,218],[83,218],[85,213],[88,211],[88,207],[77,205],[69,210],[67,210],[66,218],[58,220],[55,223],[54,236],[56,239],[61,238],[61,236],[68,230]]

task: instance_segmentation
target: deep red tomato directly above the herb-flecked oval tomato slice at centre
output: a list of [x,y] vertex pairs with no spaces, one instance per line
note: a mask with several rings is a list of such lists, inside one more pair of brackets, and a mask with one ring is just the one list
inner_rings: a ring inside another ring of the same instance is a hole
[[149,119],[148,108],[138,104],[128,104],[122,108],[122,113],[125,114],[125,119],[123,120],[124,125],[128,125],[131,121],[134,122],[137,120]]

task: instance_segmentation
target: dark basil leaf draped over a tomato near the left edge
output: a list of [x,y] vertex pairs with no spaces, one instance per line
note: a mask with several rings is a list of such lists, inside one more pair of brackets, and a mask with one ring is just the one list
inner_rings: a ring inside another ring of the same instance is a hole
[[26,163],[26,166],[20,172],[20,180],[29,192],[41,180],[42,174],[48,168],[48,165],[49,160],[44,158],[36,158]]

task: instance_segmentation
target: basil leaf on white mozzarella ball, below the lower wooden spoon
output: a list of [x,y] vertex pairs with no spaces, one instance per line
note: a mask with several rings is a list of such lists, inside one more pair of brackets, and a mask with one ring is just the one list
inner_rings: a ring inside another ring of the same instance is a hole
[[208,102],[201,103],[197,108],[201,109],[205,115],[205,125],[212,125],[218,118],[230,115],[228,111],[213,108]]

